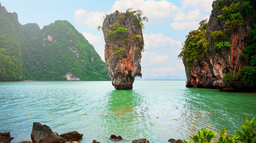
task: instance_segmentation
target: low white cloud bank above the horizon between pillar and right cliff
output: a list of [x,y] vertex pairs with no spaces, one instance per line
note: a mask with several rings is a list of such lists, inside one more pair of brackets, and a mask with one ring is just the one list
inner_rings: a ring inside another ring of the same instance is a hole
[[158,75],[185,76],[182,60],[177,60],[182,48],[181,41],[173,40],[161,33],[144,34],[143,37],[145,52],[141,57],[142,78]]

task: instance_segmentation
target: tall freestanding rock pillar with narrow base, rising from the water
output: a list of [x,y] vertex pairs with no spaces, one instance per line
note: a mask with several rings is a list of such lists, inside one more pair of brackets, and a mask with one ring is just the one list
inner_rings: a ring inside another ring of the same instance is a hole
[[144,40],[139,20],[132,13],[116,11],[106,16],[102,31],[106,42],[105,65],[112,85],[118,90],[132,89],[135,77],[141,77]]

